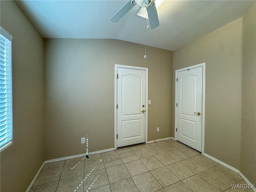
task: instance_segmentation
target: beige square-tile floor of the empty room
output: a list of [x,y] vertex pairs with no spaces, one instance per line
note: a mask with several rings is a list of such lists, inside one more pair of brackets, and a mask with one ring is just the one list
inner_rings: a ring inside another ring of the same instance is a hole
[[234,171],[174,141],[45,164],[30,192],[252,192]]

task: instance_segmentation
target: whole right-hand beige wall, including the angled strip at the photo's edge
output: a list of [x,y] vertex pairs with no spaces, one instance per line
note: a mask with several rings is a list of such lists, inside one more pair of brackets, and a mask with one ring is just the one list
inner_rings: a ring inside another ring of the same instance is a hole
[[[175,70],[206,62],[205,153],[256,183],[256,6],[173,52]],[[173,76],[173,121],[174,97]]]

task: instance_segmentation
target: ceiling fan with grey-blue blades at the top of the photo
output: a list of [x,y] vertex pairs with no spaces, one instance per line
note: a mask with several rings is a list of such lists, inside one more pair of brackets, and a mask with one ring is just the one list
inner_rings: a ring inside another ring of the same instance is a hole
[[138,4],[141,7],[146,7],[151,29],[159,26],[155,0],[129,0],[110,18],[110,21],[115,23],[118,22],[131,8],[134,7],[135,4]]

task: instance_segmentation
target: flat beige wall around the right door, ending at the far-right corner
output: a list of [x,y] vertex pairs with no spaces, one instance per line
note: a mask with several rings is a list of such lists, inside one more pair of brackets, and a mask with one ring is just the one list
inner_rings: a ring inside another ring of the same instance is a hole
[[[173,76],[177,69],[206,62],[204,150],[206,154],[238,169],[242,110],[242,21],[242,18],[235,20],[173,52]],[[174,83],[173,80],[173,104]]]

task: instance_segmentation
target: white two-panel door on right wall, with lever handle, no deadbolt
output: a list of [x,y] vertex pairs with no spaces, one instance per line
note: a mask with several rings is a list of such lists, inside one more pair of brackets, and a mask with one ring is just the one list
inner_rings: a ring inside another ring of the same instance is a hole
[[202,151],[202,73],[203,67],[177,73],[176,139]]

